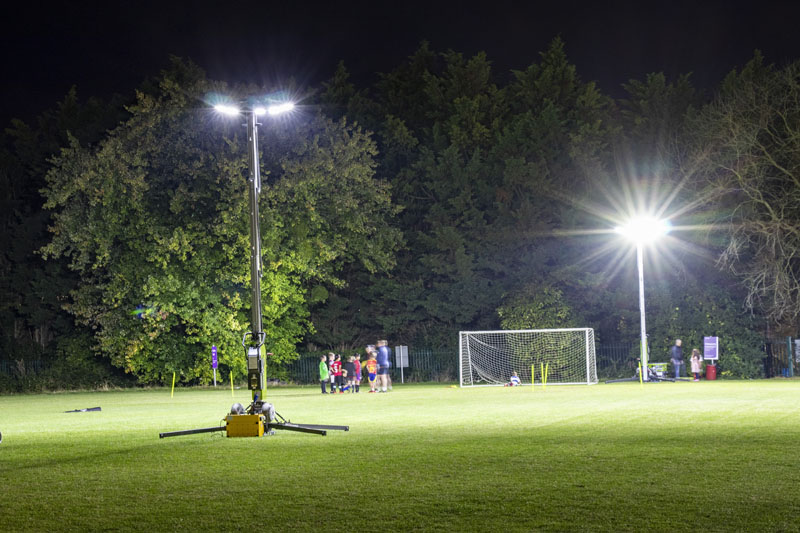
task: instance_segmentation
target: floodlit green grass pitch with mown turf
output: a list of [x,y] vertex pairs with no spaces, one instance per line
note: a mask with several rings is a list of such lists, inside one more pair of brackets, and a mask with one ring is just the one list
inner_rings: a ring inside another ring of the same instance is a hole
[[[0,397],[2,531],[798,531],[800,381]],[[101,412],[67,409],[101,406]]]

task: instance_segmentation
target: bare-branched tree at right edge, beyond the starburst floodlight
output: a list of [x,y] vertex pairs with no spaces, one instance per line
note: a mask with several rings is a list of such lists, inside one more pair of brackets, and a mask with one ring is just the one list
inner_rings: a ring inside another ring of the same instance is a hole
[[693,123],[686,169],[727,228],[720,265],[747,305],[777,326],[800,325],[800,63],[755,57],[731,72]]

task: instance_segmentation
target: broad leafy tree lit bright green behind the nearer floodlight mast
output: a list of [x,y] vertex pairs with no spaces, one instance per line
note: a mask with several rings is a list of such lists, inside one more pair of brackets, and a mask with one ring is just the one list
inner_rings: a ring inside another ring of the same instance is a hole
[[[80,276],[69,308],[94,328],[100,352],[142,382],[172,372],[207,380],[212,344],[222,364],[244,370],[247,143],[238,122],[226,129],[203,103],[225,89],[176,60],[139,93],[130,119],[96,148],[73,141],[47,176],[45,252]],[[389,268],[396,233],[375,216],[389,192],[364,131],[309,114],[261,138],[264,329],[282,361],[313,328],[314,287],[339,284],[353,261]]]

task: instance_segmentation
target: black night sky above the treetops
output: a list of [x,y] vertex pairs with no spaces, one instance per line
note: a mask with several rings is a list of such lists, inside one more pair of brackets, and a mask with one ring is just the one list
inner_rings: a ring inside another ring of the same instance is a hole
[[579,75],[614,96],[657,71],[713,87],[756,48],[777,64],[800,58],[799,20],[796,1],[27,2],[2,8],[0,119],[29,119],[73,84],[81,98],[129,94],[170,54],[211,78],[256,83],[318,83],[344,60],[368,83],[423,39],[485,51],[501,79],[560,35]]

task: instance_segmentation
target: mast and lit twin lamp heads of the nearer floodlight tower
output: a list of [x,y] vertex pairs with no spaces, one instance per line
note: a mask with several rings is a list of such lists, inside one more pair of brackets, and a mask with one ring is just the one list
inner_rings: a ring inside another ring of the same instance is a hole
[[261,316],[261,230],[259,228],[258,196],[261,194],[261,170],[258,161],[258,117],[280,115],[294,109],[294,103],[283,102],[269,107],[254,106],[240,109],[238,106],[220,104],[214,106],[218,112],[247,119],[248,196],[250,205],[250,331],[242,337],[242,346],[247,353],[247,388],[253,392],[253,400],[264,399],[264,358],[261,347],[266,337]]

